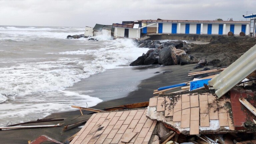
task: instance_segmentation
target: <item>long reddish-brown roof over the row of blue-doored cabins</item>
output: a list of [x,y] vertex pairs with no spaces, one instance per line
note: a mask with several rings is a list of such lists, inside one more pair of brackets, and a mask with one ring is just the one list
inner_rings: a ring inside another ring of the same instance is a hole
[[167,23],[216,23],[216,24],[249,24],[250,21],[209,21],[209,20],[142,20],[142,23],[167,22]]

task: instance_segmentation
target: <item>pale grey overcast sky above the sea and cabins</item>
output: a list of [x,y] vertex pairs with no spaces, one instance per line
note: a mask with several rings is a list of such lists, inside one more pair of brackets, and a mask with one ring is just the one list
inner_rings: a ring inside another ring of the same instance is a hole
[[256,0],[0,0],[0,25],[93,27],[142,19],[246,20]]

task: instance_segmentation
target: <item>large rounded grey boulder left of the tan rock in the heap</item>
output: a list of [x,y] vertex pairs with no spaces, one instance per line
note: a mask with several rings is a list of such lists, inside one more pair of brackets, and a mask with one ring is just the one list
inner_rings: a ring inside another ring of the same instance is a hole
[[170,47],[164,47],[159,51],[159,61],[162,65],[176,65],[177,58],[173,49]]

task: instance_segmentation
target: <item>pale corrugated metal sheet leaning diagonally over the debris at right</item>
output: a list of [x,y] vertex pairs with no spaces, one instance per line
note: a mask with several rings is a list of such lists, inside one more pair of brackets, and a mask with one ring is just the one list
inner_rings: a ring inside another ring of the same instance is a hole
[[250,48],[224,71],[210,80],[209,85],[216,89],[215,93],[218,97],[222,97],[255,70],[256,45]]

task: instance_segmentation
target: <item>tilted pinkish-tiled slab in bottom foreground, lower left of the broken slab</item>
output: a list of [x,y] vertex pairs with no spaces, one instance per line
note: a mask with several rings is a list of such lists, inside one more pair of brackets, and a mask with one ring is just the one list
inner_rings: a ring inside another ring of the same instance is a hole
[[[154,101],[150,105],[156,106]],[[164,99],[159,99],[159,103]],[[70,144],[148,143],[157,121],[146,117],[146,109],[96,113]]]

